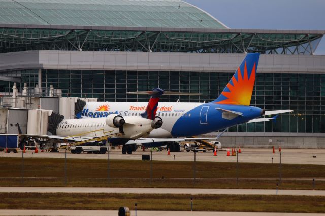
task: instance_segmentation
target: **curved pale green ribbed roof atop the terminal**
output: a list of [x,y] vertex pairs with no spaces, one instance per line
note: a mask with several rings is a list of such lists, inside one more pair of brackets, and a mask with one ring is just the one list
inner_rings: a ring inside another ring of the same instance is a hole
[[228,28],[180,0],[0,0],[0,24]]

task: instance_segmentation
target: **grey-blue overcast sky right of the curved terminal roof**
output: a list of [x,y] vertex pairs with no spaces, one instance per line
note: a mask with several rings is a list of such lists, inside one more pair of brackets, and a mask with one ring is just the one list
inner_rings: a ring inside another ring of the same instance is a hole
[[[325,30],[325,0],[183,0],[230,28]],[[315,52],[325,55],[325,37]]]

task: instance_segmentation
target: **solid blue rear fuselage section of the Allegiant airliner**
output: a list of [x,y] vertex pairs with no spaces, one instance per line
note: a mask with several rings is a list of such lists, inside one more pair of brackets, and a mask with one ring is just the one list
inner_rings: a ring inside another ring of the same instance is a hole
[[[209,106],[207,124],[200,123],[200,113],[203,106]],[[217,108],[240,112],[243,116],[237,116],[231,120],[224,119],[222,118],[222,111],[217,110]],[[187,115],[180,117],[172,128],[172,136],[182,137],[211,133],[257,118],[261,116],[261,112],[262,109],[253,106],[205,103],[188,111]]]

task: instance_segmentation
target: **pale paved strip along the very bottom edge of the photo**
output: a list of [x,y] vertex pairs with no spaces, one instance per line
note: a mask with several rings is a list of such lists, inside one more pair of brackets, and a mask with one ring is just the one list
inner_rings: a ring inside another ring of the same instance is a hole
[[[131,211],[131,216],[136,215],[135,211]],[[69,215],[69,216],[116,216],[118,211],[100,211],[100,210],[8,210],[0,209],[0,215],[45,215],[45,216],[59,216],[59,215]],[[312,213],[264,213],[264,212],[211,212],[211,211],[137,211],[138,216],[314,216],[314,215],[325,215],[325,214],[312,214]]]

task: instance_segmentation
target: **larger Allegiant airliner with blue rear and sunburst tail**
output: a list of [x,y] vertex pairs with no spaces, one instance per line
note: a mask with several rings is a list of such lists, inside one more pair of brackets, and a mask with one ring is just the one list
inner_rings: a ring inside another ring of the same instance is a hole
[[[225,131],[229,127],[246,122],[273,121],[276,117],[265,117],[293,112],[293,110],[265,111],[259,107],[250,106],[258,60],[259,53],[247,54],[221,95],[214,101],[159,103],[157,116],[164,120],[164,125],[151,131],[148,137],[140,138],[143,145],[158,147],[164,145],[163,141],[178,141],[177,137]],[[148,94],[147,92],[131,93]],[[87,102],[82,111],[76,114],[76,118],[101,118],[110,115],[137,116],[144,110],[146,110],[146,104],[143,102]],[[161,138],[160,142],[158,138]],[[133,141],[126,144],[131,143]],[[177,149],[173,146],[170,148]]]

